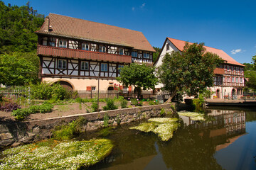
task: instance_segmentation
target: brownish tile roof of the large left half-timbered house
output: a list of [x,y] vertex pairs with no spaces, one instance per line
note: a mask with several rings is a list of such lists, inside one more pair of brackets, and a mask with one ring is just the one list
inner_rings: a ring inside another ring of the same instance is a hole
[[[49,24],[46,19],[41,29],[36,31],[36,33],[91,40],[155,52],[143,33],[139,31],[53,13],[50,13],[48,18],[50,20]],[[52,31],[48,31],[48,26],[52,27]]]

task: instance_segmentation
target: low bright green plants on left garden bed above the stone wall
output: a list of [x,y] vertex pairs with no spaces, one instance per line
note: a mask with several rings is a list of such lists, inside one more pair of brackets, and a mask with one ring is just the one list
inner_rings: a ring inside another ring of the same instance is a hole
[[29,108],[20,108],[13,111],[11,115],[14,115],[17,120],[23,120],[26,116],[33,113],[49,113],[52,111],[53,105],[49,103],[43,103],[39,106],[30,106]]

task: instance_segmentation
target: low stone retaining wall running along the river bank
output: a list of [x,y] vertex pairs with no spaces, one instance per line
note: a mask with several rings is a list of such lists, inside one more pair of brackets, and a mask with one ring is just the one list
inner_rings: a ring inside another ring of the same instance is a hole
[[148,119],[151,117],[160,116],[161,110],[165,113],[173,113],[171,105],[175,104],[169,103],[156,106],[123,108],[113,111],[83,113],[60,118],[3,123],[0,125],[0,147],[18,145],[21,142],[36,142],[38,140],[49,138],[51,135],[51,130],[53,130],[56,125],[70,123],[73,120],[80,118],[81,116],[88,121],[84,126],[84,129],[90,131],[103,127],[103,118],[105,114],[109,116],[109,123],[111,125],[117,125],[117,118],[119,118],[121,120],[121,124],[123,124],[144,118]]

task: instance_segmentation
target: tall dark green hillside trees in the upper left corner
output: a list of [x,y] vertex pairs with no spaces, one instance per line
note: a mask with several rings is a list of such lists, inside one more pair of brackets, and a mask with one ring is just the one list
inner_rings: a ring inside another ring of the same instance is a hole
[[34,33],[44,22],[29,5],[6,6],[0,1],[0,54],[9,52],[36,51],[37,35]]

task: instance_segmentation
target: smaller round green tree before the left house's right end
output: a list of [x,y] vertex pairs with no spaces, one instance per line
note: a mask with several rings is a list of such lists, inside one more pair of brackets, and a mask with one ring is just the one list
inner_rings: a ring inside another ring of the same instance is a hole
[[119,70],[120,77],[117,77],[117,81],[124,86],[135,86],[139,97],[142,89],[154,89],[154,86],[157,84],[158,79],[154,71],[154,67],[147,66],[146,64],[132,63]]

